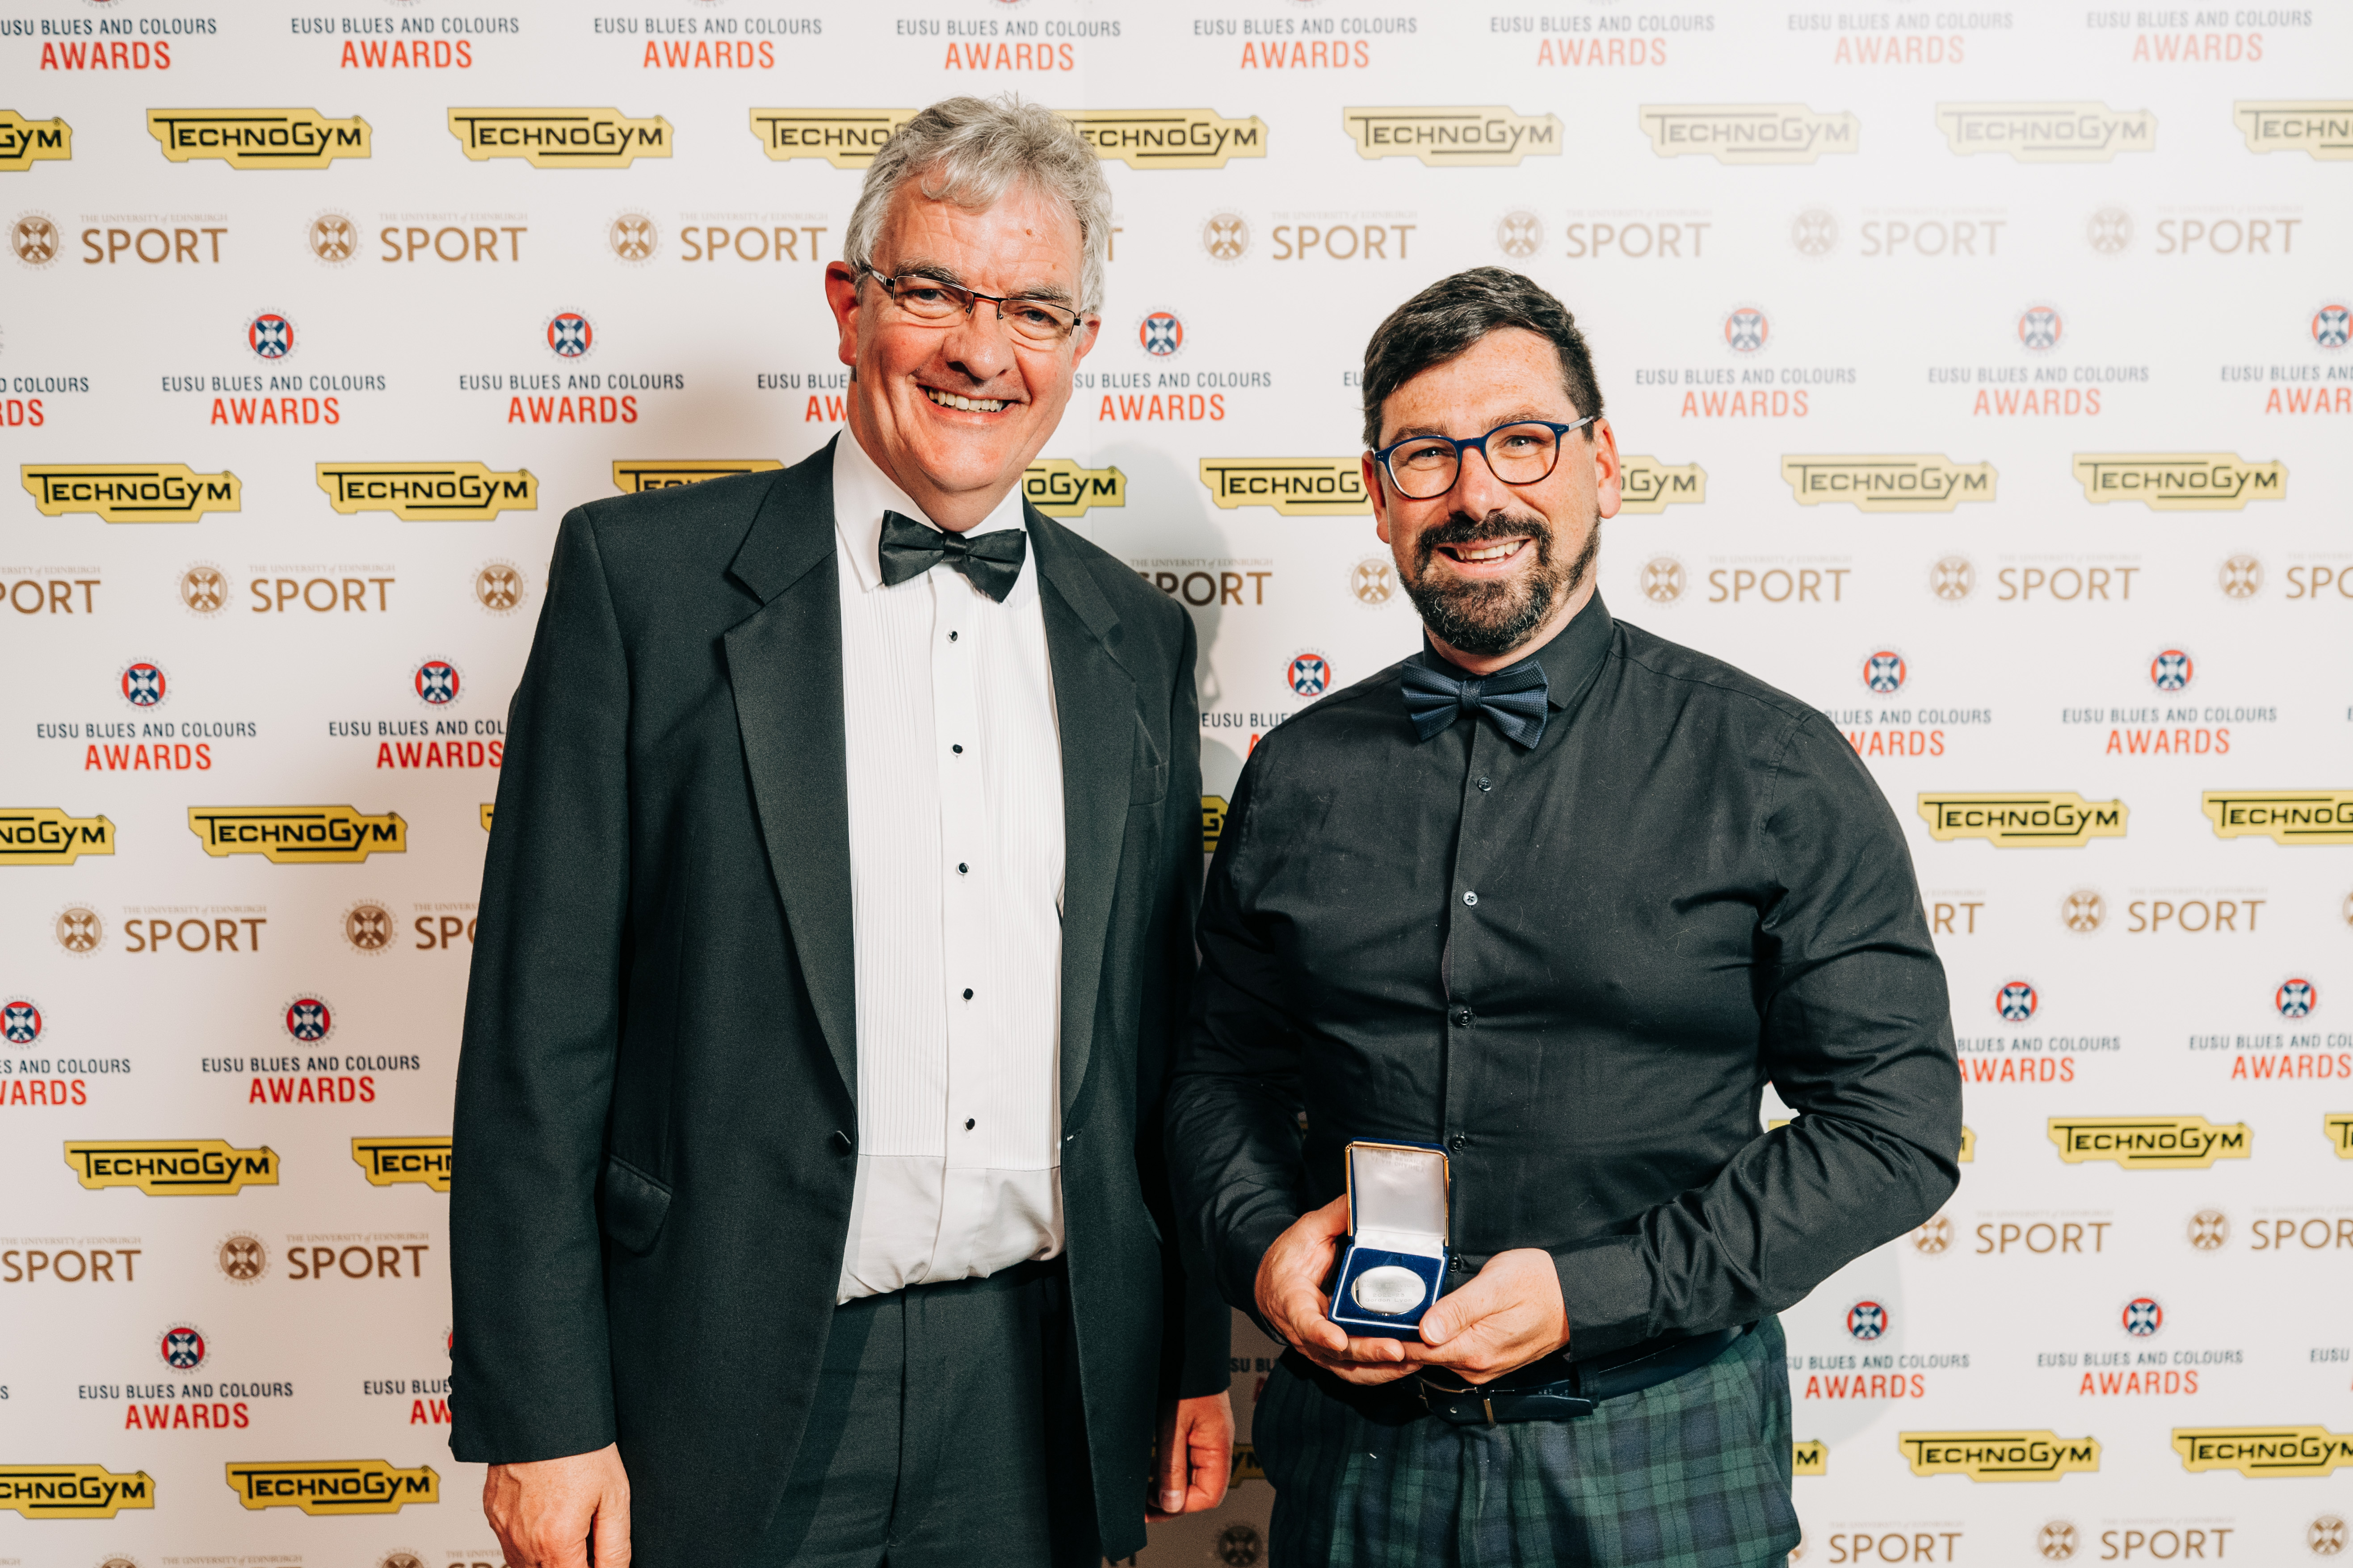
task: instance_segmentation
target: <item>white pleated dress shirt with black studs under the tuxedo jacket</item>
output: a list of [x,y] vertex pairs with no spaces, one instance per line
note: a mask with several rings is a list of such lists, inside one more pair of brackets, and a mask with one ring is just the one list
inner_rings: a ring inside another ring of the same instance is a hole
[[[859,1170],[835,1300],[1061,1253],[1061,739],[1038,563],[1005,603],[882,586],[882,513],[833,445]],[[1016,485],[972,534],[1021,527]]]

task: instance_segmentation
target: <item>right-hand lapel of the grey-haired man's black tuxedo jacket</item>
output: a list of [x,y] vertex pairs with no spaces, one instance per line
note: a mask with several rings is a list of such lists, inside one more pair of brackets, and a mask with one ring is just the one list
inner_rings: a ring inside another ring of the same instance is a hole
[[1094,998],[1127,833],[1136,683],[1113,655],[1120,617],[1061,525],[1038,509],[1026,518],[1061,735],[1061,1109],[1068,1116],[1094,1050]]

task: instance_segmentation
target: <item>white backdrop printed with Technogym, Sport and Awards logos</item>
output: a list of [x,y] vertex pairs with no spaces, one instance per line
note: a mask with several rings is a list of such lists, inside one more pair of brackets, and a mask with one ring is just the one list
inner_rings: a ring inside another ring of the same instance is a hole
[[[1475,264],[1591,334],[1612,610],[1885,784],[1969,1147],[1786,1314],[1805,1566],[2344,1552],[2353,9],[1513,2],[0,16],[0,1566],[499,1561],[449,1083],[551,537],[840,428],[951,92],[1118,193],[1031,494],[1195,614],[1205,838],[1414,647],[1358,363]],[[1238,1474],[1146,1556],[1261,1561]]]

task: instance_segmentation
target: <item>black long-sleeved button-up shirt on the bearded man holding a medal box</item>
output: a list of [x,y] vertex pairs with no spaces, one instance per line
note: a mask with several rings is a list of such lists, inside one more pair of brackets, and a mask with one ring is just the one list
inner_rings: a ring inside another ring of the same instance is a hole
[[1788,1307],[1953,1191],[1944,968],[1854,749],[1598,596],[1537,657],[1529,751],[1417,742],[1393,666],[1242,768],[1169,1095],[1242,1309],[1362,1137],[1449,1151],[1449,1288],[1553,1255],[1572,1356]]

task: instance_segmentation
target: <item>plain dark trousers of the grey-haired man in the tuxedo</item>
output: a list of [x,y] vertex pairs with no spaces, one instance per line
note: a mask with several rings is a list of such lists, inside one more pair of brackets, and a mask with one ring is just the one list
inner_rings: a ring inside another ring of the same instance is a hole
[[1099,1561],[1059,1260],[833,1309],[755,1568]]

